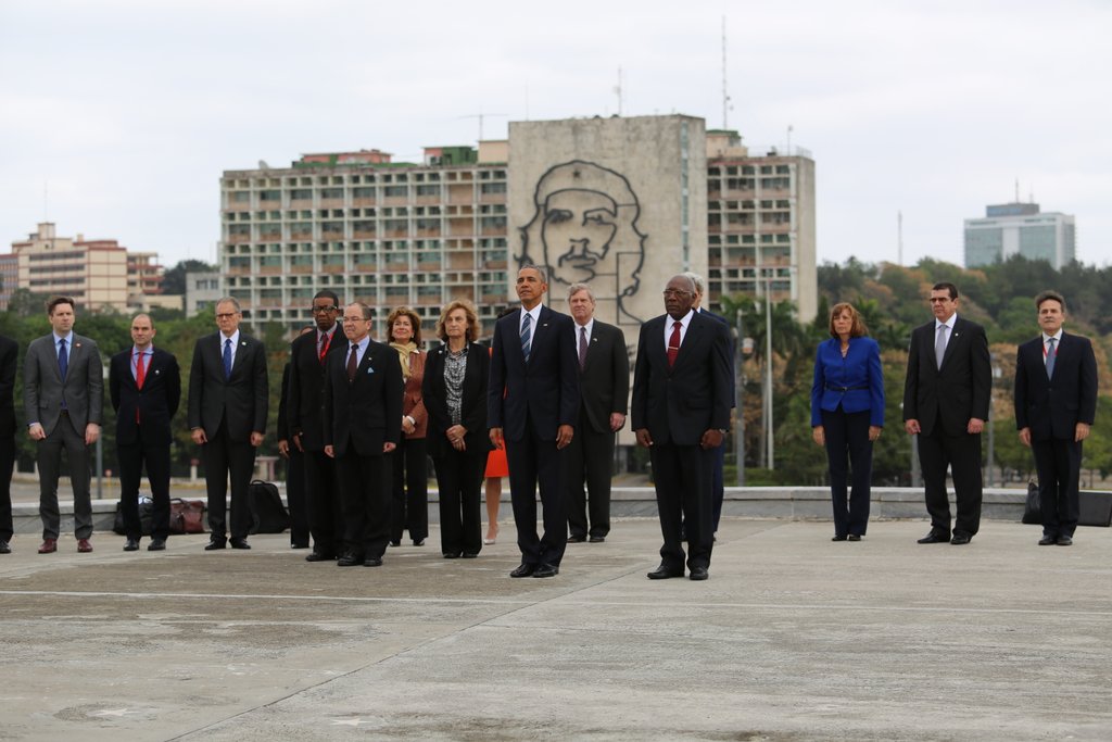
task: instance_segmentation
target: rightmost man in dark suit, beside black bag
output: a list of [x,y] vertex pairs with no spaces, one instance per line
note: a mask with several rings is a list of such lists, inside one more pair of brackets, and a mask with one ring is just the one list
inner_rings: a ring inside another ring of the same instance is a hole
[[1096,416],[1096,357],[1088,337],[1066,335],[1065,299],[1035,297],[1042,334],[1015,356],[1015,427],[1039,471],[1040,546],[1070,546],[1078,527],[1081,443]]

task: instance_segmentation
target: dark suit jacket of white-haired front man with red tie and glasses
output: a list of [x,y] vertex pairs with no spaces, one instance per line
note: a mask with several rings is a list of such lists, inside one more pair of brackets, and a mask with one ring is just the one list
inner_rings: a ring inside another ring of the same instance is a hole
[[665,321],[673,319],[661,315],[641,327],[631,405],[633,429],[647,428],[654,444],[693,446],[706,431],[729,426],[729,333],[721,321],[695,313],[676,364],[668,368]]

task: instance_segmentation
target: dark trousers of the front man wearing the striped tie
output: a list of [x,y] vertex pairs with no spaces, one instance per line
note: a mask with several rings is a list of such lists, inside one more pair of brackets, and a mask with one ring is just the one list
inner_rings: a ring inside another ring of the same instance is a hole
[[[506,441],[506,461],[509,463],[509,498],[514,506],[514,525],[517,526],[517,547],[522,550],[523,564],[550,564],[559,566],[567,547],[567,499],[564,489],[564,452],[556,448],[556,439],[542,441],[526,421],[525,437]],[[540,505],[544,534],[537,535],[537,485],[540,485]]]

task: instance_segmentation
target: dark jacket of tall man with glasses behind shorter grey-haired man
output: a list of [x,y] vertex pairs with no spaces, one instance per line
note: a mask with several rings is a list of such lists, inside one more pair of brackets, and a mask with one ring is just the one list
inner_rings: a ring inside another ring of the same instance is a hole
[[[332,354],[344,354],[348,347],[344,329],[337,324],[332,340],[325,355],[325,364],[317,355],[317,333],[306,333],[294,339],[289,352],[289,385],[286,394],[286,424],[278,437],[301,435],[306,451],[325,449],[325,367]],[[279,423],[280,425],[281,423]]]

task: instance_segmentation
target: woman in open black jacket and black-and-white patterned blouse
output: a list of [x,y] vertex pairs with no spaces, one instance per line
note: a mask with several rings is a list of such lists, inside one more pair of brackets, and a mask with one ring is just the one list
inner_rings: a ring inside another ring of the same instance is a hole
[[474,558],[483,548],[479,489],[490,448],[490,356],[475,342],[479,320],[470,301],[446,306],[436,334],[445,344],[428,354],[421,395],[428,412],[428,453],[440,489],[440,551],[449,560]]

